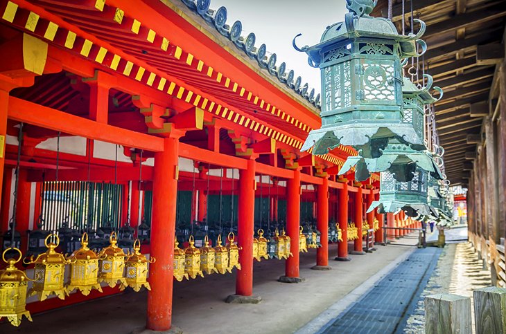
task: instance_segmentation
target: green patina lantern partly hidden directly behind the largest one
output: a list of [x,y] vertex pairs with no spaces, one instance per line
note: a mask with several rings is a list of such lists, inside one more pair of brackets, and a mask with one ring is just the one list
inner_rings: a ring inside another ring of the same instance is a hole
[[[418,89],[408,78],[403,78],[403,124],[407,124],[415,130],[415,133],[421,141],[424,141],[424,106],[433,104],[443,96],[443,91],[439,87],[434,87],[439,91],[439,99],[430,95],[429,91],[433,84],[433,78],[430,75],[424,75],[427,79],[426,86]],[[349,156],[339,171],[339,175],[346,174],[352,167],[356,167],[355,179],[358,181],[367,180],[371,173],[380,171],[391,171],[396,180],[410,181],[414,176],[415,169],[420,167],[429,171],[435,178],[441,179],[442,174],[439,170],[439,162],[435,160],[434,155],[426,151],[413,149],[412,145],[407,145],[400,138],[388,138],[385,149],[381,149],[381,154],[373,150],[372,156],[358,152],[358,156]]]

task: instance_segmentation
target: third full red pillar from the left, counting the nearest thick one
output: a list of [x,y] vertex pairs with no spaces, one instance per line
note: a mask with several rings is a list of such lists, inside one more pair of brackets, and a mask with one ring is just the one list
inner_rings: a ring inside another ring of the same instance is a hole
[[291,257],[286,259],[285,276],[279,277],[283,283],[300,283],[299,277],[299,226],[300,226],[300,171],[293,171],[293,178],[288,179],[286,186],[286,234],[290,236]]

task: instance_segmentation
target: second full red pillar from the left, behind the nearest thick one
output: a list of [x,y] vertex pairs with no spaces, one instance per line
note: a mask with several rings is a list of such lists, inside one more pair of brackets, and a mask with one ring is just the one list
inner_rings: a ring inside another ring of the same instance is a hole
[[236,276],[236,295],[253,295],[253,236],[255,201],[255,162],[247,161],[247,169],[239,171],[238,245],[241,270]]

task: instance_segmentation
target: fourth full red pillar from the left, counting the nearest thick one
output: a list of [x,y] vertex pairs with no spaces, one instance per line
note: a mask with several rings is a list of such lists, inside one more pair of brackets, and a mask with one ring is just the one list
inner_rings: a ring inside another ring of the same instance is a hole
[[317,187],[316,228],[320,230],[322,247],[316,250],[314,270],[331,270],[329,267],[329,179],[323,178],[322,185]]

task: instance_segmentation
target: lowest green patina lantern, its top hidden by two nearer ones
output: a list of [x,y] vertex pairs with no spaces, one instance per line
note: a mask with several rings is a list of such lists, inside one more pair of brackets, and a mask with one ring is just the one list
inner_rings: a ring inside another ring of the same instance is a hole
[[377,207],[381,214],[403,210],[410,217],[416,217],[419,214],[437,216],[437,212],[428,205],[427,192],[428,173],[424,169],[416,169],[415,176],[409,182],[398,181],[392,172],[383,171],[379,201],[374,201],[367,213]]

